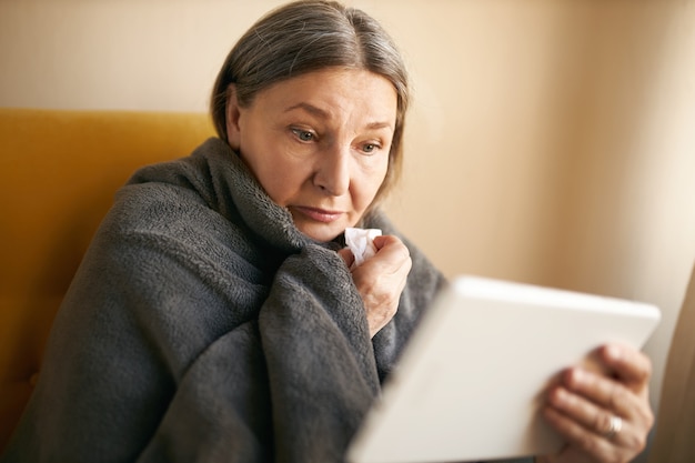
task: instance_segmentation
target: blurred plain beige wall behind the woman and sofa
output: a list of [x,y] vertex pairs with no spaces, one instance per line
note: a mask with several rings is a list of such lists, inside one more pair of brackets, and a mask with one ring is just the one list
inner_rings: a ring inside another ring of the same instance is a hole
[[[280,3],[0,0],[0,105],[203,111],[230,47]],[[658,304],[656,406],[695,261],[693,2],[350,3],[413,76],[395,222],[447,275]]]

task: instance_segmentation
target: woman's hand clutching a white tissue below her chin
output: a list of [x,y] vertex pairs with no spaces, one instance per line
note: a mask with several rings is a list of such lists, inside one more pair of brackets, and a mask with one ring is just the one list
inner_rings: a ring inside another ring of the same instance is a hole
[[376,253],[361,265],[352,268],[355,256],[349,248],[339,251],[362,295],[366,309],[370,335],[373,338],[399,310],[399,300],[412,266],[410,251],[393,235],[375,236]]

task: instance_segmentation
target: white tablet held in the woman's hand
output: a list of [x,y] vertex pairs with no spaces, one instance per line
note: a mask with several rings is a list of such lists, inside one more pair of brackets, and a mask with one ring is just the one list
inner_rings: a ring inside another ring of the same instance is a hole
[[492,460],[554,452],[540,394],[608,341],[642,348],[656,306],[460,276],[435,300],[348,453],[350,463]]

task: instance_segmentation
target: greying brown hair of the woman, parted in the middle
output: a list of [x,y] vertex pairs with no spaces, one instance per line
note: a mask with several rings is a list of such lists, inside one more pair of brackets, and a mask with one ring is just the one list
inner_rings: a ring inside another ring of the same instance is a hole
[[301,0],[280,7],[253,24],[236,42],[218,74],[211,114],[226,140],[226,103],[234,84],[241,107],[273,83],[325,68],[364,69],[386,78],[396,90],[395,131],[389,170],[377,193],[397,181],[409,105],[407,72],[391,37],[372,17],[336,1]]

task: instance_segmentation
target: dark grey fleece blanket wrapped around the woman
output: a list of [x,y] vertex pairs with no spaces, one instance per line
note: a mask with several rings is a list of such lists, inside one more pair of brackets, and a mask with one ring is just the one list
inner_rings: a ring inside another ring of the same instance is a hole
[[[375,214],[366,228],[396,233]],[[370,340],[351,274],[233,151],[140,170],[56,320],[3,462],[336,462],[442,275]]]

